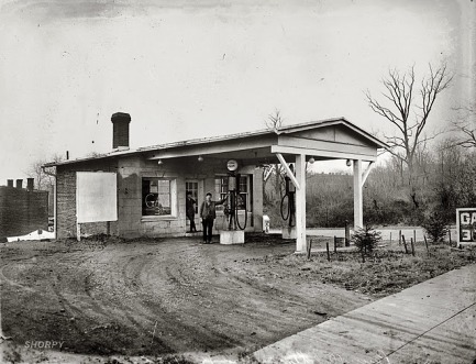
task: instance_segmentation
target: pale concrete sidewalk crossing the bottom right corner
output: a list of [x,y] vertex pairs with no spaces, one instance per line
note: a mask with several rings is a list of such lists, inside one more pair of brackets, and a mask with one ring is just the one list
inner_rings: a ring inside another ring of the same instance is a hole
[[476,265],[255,352],[262,363],[476,363]]

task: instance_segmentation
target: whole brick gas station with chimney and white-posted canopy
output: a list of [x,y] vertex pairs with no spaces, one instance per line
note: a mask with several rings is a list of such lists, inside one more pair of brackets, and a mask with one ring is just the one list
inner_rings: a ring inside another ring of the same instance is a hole
[[[306,164],[347,159],[353,164],[354,224],[363,225],[363,185],[385,148],[369,133],[344,118],[153,145],[130,150],[131,117],[118,112],[112,152],[93,157],[49,163],[56,167],[56,238],[107,233],[123,238],[185,236],[186,192],[197,200],[228,194],[228,166],[237,164],[237,219],[245,231],[263,230],[263,166],[281,164],[296,187],[296,251],[306,251]],[[294,170],[289,167],[294,164]],[[276,201],[278,203],[279,201]],[[197,209],[197,210],[198,210]],[[197,211],[198,212],[198,211]],[[246,219],[244,214],[246,213]],[[201,227],[199,213],[196,224]],[[223,207],[214,232],[228,230]]]

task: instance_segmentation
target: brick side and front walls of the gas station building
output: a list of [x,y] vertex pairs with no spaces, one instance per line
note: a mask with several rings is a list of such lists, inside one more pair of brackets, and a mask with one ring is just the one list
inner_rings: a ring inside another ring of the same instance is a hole
[[[141,155],[123,156],[118,161],[96,161],[57,169],[57,232],[58,238],[76,236],[76,172],[118,173],[118,222],[111,222],[110,233],[123,238],[135,236],[182,236],[186,225],[186,180],[201,180],[204,194],[211,191],[214,199],[214,177],[226,173],[226,159],[206,158],[198,163],[196,157],[165,159],[158,165]],[[253,223],[250,214],[247,231],[261,230],[263,217],[262,170],[244,168],[253,175]],[[177,214],[175,217],[142,216],[142,178],[160,177],[176,180]],[[200,205],[202,201],[198,201]],[[200,227],[197,227],[200,228]],[[215,221],[217,229],[225,229],[223,217]],[[106,233],[106,222],[81,224],[81,233]]]

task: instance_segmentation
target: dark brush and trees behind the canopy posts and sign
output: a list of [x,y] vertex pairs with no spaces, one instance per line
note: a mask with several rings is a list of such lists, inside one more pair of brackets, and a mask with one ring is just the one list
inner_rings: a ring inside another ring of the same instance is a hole
[[[412,187],[408,167],[392,156],[374,167],[364,185],[364,223],[421,225],[438,216],[454,223],[455,209],[476,206],[476,152],[446,139],[416,153]],[[265,212],[273,225],[281,224],[279,203],[284,173],[265,184]],[[353,223],[353,176],[312,174],[307,177],[308,227],[343,227]]]

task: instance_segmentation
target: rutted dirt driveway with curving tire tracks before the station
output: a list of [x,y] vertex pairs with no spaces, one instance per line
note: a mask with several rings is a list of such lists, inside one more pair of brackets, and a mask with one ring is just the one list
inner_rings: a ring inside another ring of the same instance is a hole
[[274,264],[292,242],[251,240],[0,244],[3,333],[85,354],[250,351],[369,301]]

